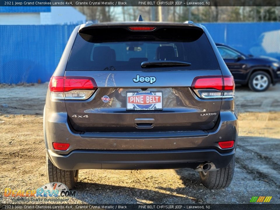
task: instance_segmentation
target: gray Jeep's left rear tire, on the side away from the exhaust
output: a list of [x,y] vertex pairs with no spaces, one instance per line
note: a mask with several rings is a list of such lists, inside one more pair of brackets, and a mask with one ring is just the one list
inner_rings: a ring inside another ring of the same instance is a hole
[[66,185],[69,190],[75,187],[78,181],[79,170],[68,171],[57,168],[46,154],[46,166],[49,182],[60,182]]

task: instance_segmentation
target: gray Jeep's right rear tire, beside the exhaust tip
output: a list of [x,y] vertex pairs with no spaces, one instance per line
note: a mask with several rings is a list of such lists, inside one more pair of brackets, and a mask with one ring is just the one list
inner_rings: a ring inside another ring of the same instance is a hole
[[228,187],[234,174],[234,162],[233,156],[230,164],[225,168],[220,168],[217,171],[200,171],[199,175],[204,186],[209,189]]

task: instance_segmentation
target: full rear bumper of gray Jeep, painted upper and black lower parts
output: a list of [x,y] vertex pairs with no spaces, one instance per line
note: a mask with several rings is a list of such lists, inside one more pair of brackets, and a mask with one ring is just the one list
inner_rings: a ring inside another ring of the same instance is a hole
[[[46,116],[46,152],[53,164],[64,170],[196,168],[202,162],[213,162],[218,169],[230,163],[237,146],[238,123],[233,111],[221,111],[211,130],[143,136],[81,134],[69,127],[67,113]],[[235,141],[234,148],[219,147],[219,141],[229,140]],[[53,142],[69,143],[70,147],[54,150]]]

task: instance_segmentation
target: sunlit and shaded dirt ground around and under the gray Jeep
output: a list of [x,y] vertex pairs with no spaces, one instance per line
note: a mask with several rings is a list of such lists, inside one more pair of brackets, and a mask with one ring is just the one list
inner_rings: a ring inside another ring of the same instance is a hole
[[[46,89],[47,84],[0,87],[0,203],[13,203],[3,196],[6,187],[37,189],[48,182]],[[252,196],[272,196],[270,203],[279,204],[279,92],[280,84],[259,93],[236,88],[239,146],[230,187],[209,190],[191,169],[80,170],[76,197],[68,203],[249,203]]]

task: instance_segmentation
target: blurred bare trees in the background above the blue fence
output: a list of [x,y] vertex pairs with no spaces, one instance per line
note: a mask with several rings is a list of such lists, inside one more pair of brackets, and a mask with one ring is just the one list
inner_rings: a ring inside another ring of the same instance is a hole
[[[90,0],[85,0],[90,1]],[[158,0],[157,0],[158,1]],[[184,22],[239,22],[239,21],[279,21],[279,7],[255,7],[255,6],[219,6],[218,0],[213,0],[214,6],[206,7],[166,7],[163,8],[164,21]],[[245,0],[243,1],[245,3]],[[116,13],[124,21],[135,21],[141,14],[144,21],[158,20],[158,7],[110,7],[110,6],[80,6],[76,7],[86,15],[87,20],[99,22],[115,21]]]

